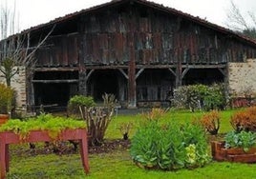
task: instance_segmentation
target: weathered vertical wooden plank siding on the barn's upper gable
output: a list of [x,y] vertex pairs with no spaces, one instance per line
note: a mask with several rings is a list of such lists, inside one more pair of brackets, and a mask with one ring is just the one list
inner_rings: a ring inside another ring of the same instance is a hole
[[[53,36],[39,50],[38,67],[128,65],[128,32],[135,35],[136,64],[224,64],[255,57],[255,49],[191,21],[150,8],[127,7],[82,16],[77,34]],[[130,12],[132,10],[132,12]],[[131,16],[135,26],[131,27]],[[80,38],[82,46],[78,41]],[[79,57],[79,50],[82,56]]]

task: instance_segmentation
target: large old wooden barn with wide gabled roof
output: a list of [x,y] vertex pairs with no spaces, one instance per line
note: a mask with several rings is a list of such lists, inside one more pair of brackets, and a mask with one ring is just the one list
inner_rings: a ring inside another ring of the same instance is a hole
[[256,68],[255,41],[145,0],[111,1],[21,33],[30,33],[33,46],[53,26],[34,55],[34,68],[16,75],[25,109],[65,107],[75,94],[101,101],[105,92],[115,94],[122,108],[162,106],[181,85],[232,82],[237,90],[244,82],[234,81],[241,76],[234,71],[247,59],[253,65],[246,67]]

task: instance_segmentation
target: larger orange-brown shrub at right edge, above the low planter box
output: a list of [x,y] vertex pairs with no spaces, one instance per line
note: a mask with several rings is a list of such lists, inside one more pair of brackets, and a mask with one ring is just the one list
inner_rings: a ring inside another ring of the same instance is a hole
[[256,107],[234,113],[230,123],[236,131],[256,131]]

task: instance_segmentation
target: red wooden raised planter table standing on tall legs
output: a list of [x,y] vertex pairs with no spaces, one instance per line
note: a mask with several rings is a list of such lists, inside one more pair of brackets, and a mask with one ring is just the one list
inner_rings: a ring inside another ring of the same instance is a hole
[[[66,129],[60,132],[54,140],[77,140],[79,141],[82,165],[86,173],[89,173],[88,142],[86,129]],[[46,130],[32,130],[26,139],[22,140],[18,134],[11,131],[0,132],[0,170],[1,179],[6,178],[9,171],[9,145],[20,143],[51,142],[53,139]]]

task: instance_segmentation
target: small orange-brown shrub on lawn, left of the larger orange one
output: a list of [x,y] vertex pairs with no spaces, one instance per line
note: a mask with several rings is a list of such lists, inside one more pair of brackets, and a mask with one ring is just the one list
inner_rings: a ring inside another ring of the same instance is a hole
[[220,112],[218,110],[212,110],[202,116],[200,123],[210,134],[216,135],[220,129],[220,119]]

